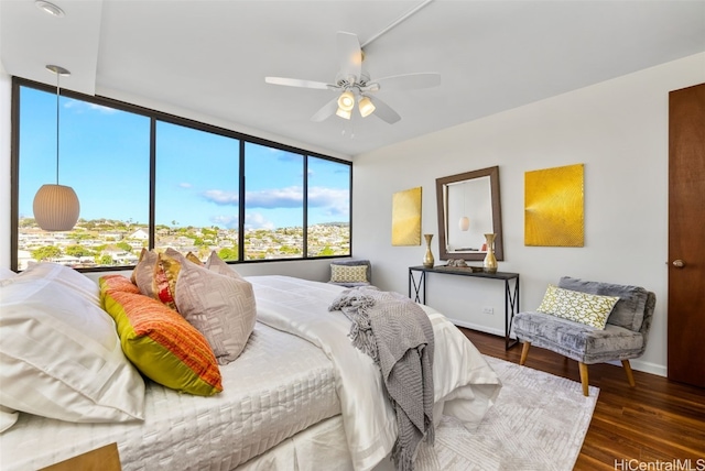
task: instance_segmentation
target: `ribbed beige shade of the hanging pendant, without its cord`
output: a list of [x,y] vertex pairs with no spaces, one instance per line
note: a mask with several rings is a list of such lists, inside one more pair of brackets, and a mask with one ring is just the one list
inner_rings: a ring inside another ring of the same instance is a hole
[[45,231],[68,231],[76,226],[80,205],[70,186],[42,185],[34,196],[34,219]]

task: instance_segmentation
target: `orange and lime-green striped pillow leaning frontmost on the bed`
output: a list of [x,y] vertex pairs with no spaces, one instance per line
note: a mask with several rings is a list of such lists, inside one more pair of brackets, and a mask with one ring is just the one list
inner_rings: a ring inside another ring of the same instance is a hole
[[210,396],[223,391],[220,370],[208,342],[178,313],[140,294],[122,275],[101,276],[99,284],[122,351],[138,370],[184,393]]

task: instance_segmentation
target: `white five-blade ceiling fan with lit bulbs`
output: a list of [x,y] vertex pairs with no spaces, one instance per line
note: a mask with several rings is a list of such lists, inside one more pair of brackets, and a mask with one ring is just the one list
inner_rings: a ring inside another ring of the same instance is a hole
[[358,110],[362,118],[375,113],[375,116],[390,124],[399,121],[401,117],[378,97],[372,97],[373,92],[381,89],[412,90],[441,85],[441,74],[437,73],[403,74],[375,80],[370,79],[369,74],[362,69],[365,53],[360,47],[357,35],[354,33],[339,31],[337,35],[337,48],[340,70],[336,75],[335,83],[333,84],[285,77],[264,77],[264,81],[273,85],[316,88],[339,92],[336,98],[328,101],[311,117],[312,121],[323,121],[333,114],[344,119],[350,119],[352,109],[357,102]]

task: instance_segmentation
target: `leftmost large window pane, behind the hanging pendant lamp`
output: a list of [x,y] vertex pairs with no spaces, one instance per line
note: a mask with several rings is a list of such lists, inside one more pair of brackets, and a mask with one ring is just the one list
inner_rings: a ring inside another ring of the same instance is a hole
[[61,97],[58,183],[78,195],[80,220],[69,232],[44,232],[32,204],[43,184],[56,183],[56,94],[21,87],[20,102],[13,266],[42,260],[79,267],[134,264],[147,247],[149,118]]

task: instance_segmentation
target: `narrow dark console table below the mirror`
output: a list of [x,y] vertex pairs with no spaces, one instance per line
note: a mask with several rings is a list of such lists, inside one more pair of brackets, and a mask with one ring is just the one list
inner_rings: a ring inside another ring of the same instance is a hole
[[[417,280],[415,276],[416,273],[420,273]],[[511,322],[514,319],[514,314],[519,313],[519,273],[485,273],[477,271],[473,272],[469,267],[451,269],[445,266],[434,266],[432,269],[427,269],[425,266],[410,266],[409,297],[412,298],[415,303],[426,304],[426,275],[429,273],[467,276],[470,278],[498,280],[505,282],[505,350],[509,350],[510,348],[519,343],[518,340],[512,341],[509,338],[509,332],[511,332]],[[411,296],[412,287],[414,291],[414,297]]]

